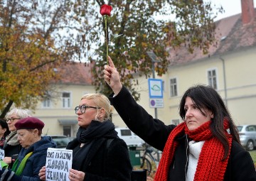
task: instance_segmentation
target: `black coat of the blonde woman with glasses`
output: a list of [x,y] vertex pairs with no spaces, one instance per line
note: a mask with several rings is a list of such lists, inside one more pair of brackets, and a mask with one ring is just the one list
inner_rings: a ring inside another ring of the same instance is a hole
[[[73,150],[73,159],[80,143],[78,139],[71,141],[67,149]],[[79,155],[81,164],[76,164],[85,172],[85,181],[130,181],[132,165],[129,160],[127,144],[120,138],[112,139],[107,146],[107,138],[97,138],[85,154]],[[73,160],[74,162],[75,160]],[[75,169],[75,168],[74,168]]]

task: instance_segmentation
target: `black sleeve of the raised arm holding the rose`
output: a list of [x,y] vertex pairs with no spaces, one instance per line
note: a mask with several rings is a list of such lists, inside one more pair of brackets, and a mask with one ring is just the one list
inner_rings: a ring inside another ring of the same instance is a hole
[[109,99],[124,123],[134,133],[154,148],[164,150],[165,143],[169,133],[174,129],[174,125],[166,126],[159,119],[154,119],[142,106],[137,104],[124,86],[119,94],[115,97],[109,97]]

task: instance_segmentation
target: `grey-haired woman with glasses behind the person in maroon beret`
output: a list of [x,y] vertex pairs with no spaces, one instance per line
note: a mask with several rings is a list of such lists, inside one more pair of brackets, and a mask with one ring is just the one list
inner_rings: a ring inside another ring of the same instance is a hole
[[21,146],[18,143],[18,135],[16,128],[14,124],[16,124],[20,119],[26,118],[28,116],[31,116],[31,111],[28,109],[11,109],[6,114],[6,123],[8,124],[9,133],[8,136],[6,136],[6,141],[4,141],[4,162],[9,164],[9,168],[11,168],[12,163],[16,160],[18,153],[21,150]]

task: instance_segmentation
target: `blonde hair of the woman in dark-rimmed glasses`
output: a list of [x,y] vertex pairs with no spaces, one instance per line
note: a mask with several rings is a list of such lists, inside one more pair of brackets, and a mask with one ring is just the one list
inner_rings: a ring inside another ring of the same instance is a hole
[[104,119],[110,119],[113,111],[113,106],[110,104],[110,100],[105,95],[100,93],[85,94],[82,96],[81,100],[82,99],[91,99],[93,102],[95,102],[97,108],[105,109]]

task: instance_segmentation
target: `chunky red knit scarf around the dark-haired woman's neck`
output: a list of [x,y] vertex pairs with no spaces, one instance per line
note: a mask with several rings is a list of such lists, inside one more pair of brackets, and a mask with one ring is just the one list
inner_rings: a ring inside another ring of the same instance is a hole
[[[211,121],[207,121],[205,124],[196,128],[194,131],[189,131],[185,122],[179,124],[171,131],[166,145],[164,146],[164,152],[161,157],[159,167],[156,171],[154,181],[167,181],[169,175],[169,167],[172,159],[174,158],[174,152],[178,146],[178,142],[175,140],[178,136],[186,133],[188,138],[193,141],[205,141],[203,148],[199,155],[198,165],[196,167],[196,173],[194,181],[221,181],[223,180],[225,170],[228,165],[228,158],[230,155],[230,149],[228,157],[223,160],[224,148],[217,138],[213,137],[210,131]],[[225,129],[228,128],[228,121],[224,121]],[[232,137],[226,133],[231,148]],[[185,172],[184,172],[185,174]],[[174,180],[176,181],[176,180]]]

